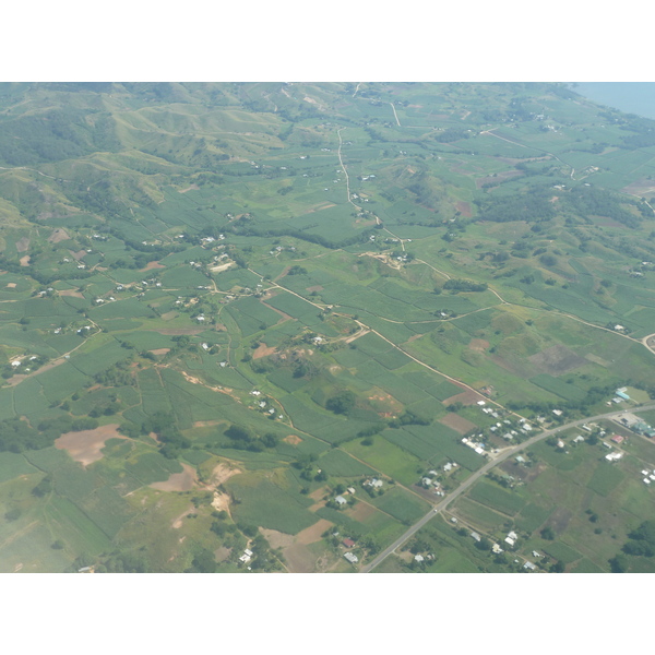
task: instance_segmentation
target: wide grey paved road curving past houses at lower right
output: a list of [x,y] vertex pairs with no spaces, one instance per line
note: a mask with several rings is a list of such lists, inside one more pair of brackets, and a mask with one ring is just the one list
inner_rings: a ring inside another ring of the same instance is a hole
[[452,493],[450,493],[446,498],[444,498],[440,503],[434,505],[433,509],[431,509],[422,519],[417,521],[409,529],[407,529],[407,532],[405,532],[404,535],[398,537],[391,546],[389,546],[389,548],[385,548],[372,562],[370,562],[366,567],[362,567],[359,570],[359,572],[360,573],[369,573],[370,571],[372,571],[377,565],[379,565],[382,561],[384,561],[398,546],[404,544],[409,537],[412,537],[415,533],[417,533],[426,523],[428,523],[428,521],[430,521],[430,519],[432,519],[433,516],[436,516],[437,514],[440,514],[443,510],[445,510],[445,508],[451,502],[453,502],[453,500],[455,500],[457,497],[460,497],[462,493],[464,493],[464,491],[466,491],[472,485],[474,485],[481,476],[486,475],[491,468],[493,468],[495,466],[498,466],[501,462],[504,462],[512,455],[515,455],[516,453],[521,452],[522,450],[525,450],[526,448],[529,448],[531,445],[537,443],[537,441],[541,441],[543,439],[548,439],[548,437],[551,437],[552,434],[557,434],[558,432],[568,430],[569,428],[573,428],[573,427],[580,426],[582,424],[600,420],[600,419],[614,418],[615,416],[618,416],[619,414],[623,414],[627,410],[634,413],[634,412],[647,412],[648,409],[655,409],[655,404],[654,405],[643,405],[642,407],[639,407],[635,409],[620,409],[618,412],[608,412],[607,414],[597,414],[596,416],[588,416],[586,418],[581,418],[580,420],[574,420],[574,421],[568,422],[563,426],[558,426],[557,428],[546,430],[545,432],[539,432],[538,434],[531,437],[527,441],[524,441],[523,443],[520,443],[517,445],[514,445],[512,448],[504,450],[497,457],[495,457],[490,462],[487,462],[487,464],[485,464],[479,471],[477,471],[472,476],[469,476],[466,480],[464,480],[464,483],[462,483]]

